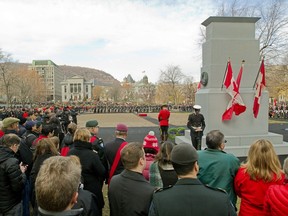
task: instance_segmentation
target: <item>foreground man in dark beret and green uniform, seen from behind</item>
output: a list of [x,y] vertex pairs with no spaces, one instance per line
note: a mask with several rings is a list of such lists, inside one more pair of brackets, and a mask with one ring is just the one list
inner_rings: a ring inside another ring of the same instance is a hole
[[181,143],[173,148],[171,161],[178,181],[154,194],[149,216],[236,216],[225,191],[205,186],[197,179],[197,160],[192,145]]

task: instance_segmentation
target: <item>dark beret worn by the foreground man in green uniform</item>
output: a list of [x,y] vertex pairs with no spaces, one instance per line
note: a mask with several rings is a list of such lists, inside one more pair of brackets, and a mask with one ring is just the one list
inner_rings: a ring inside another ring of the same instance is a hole
[[179,165],[187,165],[198,160],[196,149],[187,143],[176,145],[171,152],[171,161]]

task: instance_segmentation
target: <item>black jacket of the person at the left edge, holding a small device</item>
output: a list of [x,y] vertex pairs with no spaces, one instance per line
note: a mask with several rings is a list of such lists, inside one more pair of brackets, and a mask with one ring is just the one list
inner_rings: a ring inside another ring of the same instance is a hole
[[14,152],[0,146],[0,215],[21,202],[25,181]]

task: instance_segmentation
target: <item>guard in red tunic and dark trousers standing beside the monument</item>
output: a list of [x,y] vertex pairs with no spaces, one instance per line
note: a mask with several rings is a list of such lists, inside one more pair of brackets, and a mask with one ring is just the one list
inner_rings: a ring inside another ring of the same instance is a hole
[[168,110],[168,106],[162,105],[158,114],[158,121],[161,129],[161,142],[168,139],[169,117],[170,111]]

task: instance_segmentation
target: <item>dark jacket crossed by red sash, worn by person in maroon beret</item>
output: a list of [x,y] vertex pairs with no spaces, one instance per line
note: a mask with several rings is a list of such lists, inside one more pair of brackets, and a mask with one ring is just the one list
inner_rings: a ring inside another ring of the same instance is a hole
[[[113,164],[118,148],[121,146],[123,142],[126,142],[126,141],[122,138],[116,138],[114,141],[108,142],[104,145],[105,156],[107,158],[107,161],[110,167]],[[124,170],[124,166],[121,160],[119,160],[119,163],[118,163],[117,168],[115,169],[114,175],[120,174],[123,170]]]

